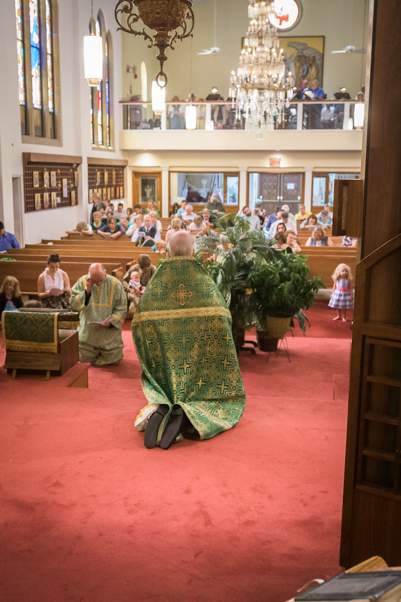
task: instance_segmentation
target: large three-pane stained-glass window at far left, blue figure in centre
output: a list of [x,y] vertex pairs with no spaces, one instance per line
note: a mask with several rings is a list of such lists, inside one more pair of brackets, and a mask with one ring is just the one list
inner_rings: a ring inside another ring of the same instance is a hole
[[14,0],[24,142],[61,140],[56,0]]

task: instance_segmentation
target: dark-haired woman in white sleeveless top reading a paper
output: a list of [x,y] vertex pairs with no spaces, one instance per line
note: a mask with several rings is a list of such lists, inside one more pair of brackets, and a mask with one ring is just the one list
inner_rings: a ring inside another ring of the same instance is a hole
[[38,297],[43,307],[69,309],[71,296],[70,279],[60,269],[60,255],[51,253],[47,257],[47,268],[38,278]]

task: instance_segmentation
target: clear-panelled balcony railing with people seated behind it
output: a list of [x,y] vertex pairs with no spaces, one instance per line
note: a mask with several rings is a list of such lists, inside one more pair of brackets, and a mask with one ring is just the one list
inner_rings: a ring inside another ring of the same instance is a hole
[[[151,102],[125,102],[123,107],[123,129],[183,130],[185,129],[185,107],[189,102],[168,102],[158,116],[152,111]],[[236,118],[231,102],[194,102],[197,107],[197,130],[246,130],[243,115]],[[352,130],[354,126],[355,101],[293,101],[284,108],[283,116],[274,117],[275,130]]]

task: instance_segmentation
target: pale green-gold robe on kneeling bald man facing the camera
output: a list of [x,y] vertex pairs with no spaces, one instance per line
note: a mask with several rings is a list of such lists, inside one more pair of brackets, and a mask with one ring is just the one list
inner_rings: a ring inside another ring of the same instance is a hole
[[[127,311],[124,287],[114,276],[106,276],[102,286],[92,285],[88,305],[85,287],[89,275],[82,276],[72,288],[70,306],[79,311],[79,361],[91,364],[115,364],[123,359],[121,330]],[[88,322],[100,322],[112,315],[109,328]]]

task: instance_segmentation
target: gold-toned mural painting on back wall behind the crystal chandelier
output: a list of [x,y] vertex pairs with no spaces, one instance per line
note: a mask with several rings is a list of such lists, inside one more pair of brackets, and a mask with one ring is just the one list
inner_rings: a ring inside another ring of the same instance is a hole
[[295,86],[302,87],[307,79],[308,86],[314,79],[323,82],[324,36],[280,36],[280,48],[286,52],[286,70],[295,78]]

